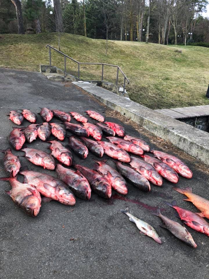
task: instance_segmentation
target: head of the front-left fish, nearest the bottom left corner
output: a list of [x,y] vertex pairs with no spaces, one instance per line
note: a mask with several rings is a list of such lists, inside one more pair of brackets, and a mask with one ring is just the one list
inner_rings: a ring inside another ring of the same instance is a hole
[[31,216],[37,216],[41,207],[41,201],[38,196],[28,196],[21,203],[21,207],[24,208],[25,212]]

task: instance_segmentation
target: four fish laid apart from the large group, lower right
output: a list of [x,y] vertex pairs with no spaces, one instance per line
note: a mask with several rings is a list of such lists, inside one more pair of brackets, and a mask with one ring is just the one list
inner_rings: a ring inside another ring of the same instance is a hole
[[[188,198],[184,200],[192,202],[201,212],[194,213],[190,210],[186,210],[178,206],[176,201],[173,201],[172,203],[165,203],[176,210],[177,217],[179,217],[184,224],[193,230],[196,230],[197,232],[201,232],[209,236],[209,223],[203,218],[206,217],[209,219],[209,201],[205,198],[202,198],[201,196],[198,196],[197,194],[194,194],[191,187],[186,187],[185,189],[174,187],[173,189],[187,196]],[[157,243],[162,244],[158,233],[151,225],[133,216],[129,212],[128,208],[126,208],[126,210],[121,209],[120,211],[125,213],[129,217],[129,220],[136,224],[141,234],[152,237]],[[197,244],[194,242],[192,235],[184,226],[164,216],[159,208],[152,214],[161,218],[163,221],[163,225],[160,225],[161,227],[169,230],[175,237],[181,239],[189,246],[197,248]]]

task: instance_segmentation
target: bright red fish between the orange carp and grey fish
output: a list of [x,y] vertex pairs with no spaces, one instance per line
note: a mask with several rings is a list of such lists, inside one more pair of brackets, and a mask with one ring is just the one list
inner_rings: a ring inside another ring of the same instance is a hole
[[209,223],[198,214],[186,210],[180,206],[177,206],[176,201],[172,201],[172,203],[167,203],[167,205],[174,208],[178,213],[179,218],[186,224],[188,227],[196,230],[197,232],[202,232],[209,236]]

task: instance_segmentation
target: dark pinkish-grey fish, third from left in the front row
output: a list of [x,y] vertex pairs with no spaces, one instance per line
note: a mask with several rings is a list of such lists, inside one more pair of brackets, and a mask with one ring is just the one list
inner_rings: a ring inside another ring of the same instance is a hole
[[84,200],[89,200],[91,198],[89,182],[80,171],[66,169],[60,164],[57,164],[56,174],[66,185],[68,185],[76,196]]

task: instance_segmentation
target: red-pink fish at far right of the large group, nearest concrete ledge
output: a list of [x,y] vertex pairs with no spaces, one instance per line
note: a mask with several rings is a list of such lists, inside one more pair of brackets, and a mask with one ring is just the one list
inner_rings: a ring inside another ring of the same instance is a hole
[[150,152],[154,154],[154,157],[158,158],[163,163],[167,164],[169,167],[174,169],[174,171],[176,171],[181,176],[188,179],[192,178],[193,176],[192,171],[179,158],[158,150],[151,150]]

